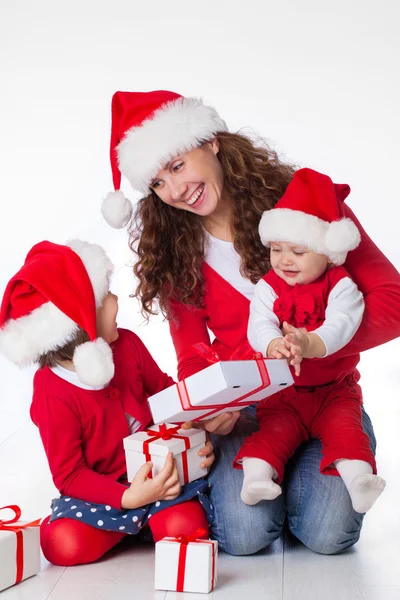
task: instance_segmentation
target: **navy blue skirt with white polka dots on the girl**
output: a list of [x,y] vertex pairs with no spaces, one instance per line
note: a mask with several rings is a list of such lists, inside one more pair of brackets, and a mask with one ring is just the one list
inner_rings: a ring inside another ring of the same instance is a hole
[[211,522],[214,518],[214,510],[206,495],[207,489],[208,482],[205,479],[197,479],[184,485],[180,496],[175,500],[160,500],[131,510],[118,510],[108,504],[95,504],[69,496],[60,496],[51,503],[50,521],[65,518],[75,519],[92,527],[97,527],[97,529],[120,531],[135,535],[147,524],[151,516],[160,512],[160,510],[198,497],[200,504],[206,511],[208,521]]

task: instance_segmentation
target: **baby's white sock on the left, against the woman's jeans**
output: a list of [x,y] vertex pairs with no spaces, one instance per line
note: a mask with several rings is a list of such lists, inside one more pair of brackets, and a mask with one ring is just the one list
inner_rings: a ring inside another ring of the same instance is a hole
[[275,469],[260,458],[243,459],[243,486],[240,497],[245,504],[257,504],[260,500],[274,500],[282,493],[281,487],[274,483]]

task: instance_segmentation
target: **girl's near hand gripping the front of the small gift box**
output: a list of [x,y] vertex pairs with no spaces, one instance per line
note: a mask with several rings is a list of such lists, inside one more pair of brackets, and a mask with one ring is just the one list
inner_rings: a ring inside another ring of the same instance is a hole
[[157,500],[174,500],[179,496],[181,484],[172,452],[168,453],[161,471],[153,479],[148,479],[147,475],[152,468],[152,462],[140,467],[131,485],[122,495],[122,508],[139,508]]

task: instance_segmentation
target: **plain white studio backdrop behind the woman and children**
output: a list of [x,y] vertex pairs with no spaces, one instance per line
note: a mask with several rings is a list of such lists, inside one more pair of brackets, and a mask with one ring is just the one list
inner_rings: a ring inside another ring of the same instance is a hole
[[[119,324],[175,374],[168,328],[139,326],[125,231],[100,203],[114,91],[202,96],[287,160],[352,187],[350,206],[399,268],[399,4],[394,0],[13,0],[0,9],[0,288],[36,242],[79,236],[117,265]],[[134,195],[125,186],[125,191]],[[398,381],[399,343],[363,357],[367,408]],[[27,412],[32,369],[0,358],[0,410]],[[388,406],[390,409],[390,406]],[[7,412],[8,411],[8,412]]]

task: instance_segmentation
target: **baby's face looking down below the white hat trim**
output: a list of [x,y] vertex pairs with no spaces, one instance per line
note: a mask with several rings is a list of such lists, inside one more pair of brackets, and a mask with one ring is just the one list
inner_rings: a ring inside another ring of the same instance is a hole
[[304,246],[271,242],[271,266],[289,285],[312,283],[328,268],[329,259]]

